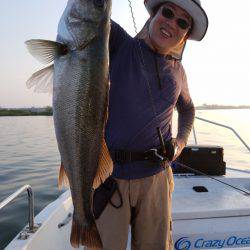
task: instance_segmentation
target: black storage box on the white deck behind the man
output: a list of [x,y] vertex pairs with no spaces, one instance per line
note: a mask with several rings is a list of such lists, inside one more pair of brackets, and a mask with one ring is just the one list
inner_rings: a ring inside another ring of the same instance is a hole
[[178,162],[207,175],[226,174],[226,163],[223,161],[223,148],[220,146],[186,146],[178,157],[177,162],[173,165],[173,172],[176,174],[193,173],[201,175],[181,166]]

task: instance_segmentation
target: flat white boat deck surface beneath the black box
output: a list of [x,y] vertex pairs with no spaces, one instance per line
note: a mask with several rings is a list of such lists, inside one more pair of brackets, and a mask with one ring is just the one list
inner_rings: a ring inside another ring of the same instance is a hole
[[[249,196],[205,176],[175,176],[173,220],[250,215],[250,172],[227,169],[225,176],[215,178]],[[194,186],[204,186],[208,192],[196,192]]]

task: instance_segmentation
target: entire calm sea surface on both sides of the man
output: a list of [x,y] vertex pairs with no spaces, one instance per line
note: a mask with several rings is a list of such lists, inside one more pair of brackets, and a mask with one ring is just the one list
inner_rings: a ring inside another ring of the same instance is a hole
[[[196,116],[233,127],[250,146],[250,109],[202,110]],[[176,119],[174,116],[174,134]],[[195,121],[198,144],[224,147],[227,166],[250,170],[250,153],[232,131]],[[190,144],[194,143],[193,134]],[[25,184],[35,194],[35,214],[65,190],[58,190],[60,157],[53,118],[0,117],[0,202]],[[0,210],[0,249],[27,224],[27,194]]]

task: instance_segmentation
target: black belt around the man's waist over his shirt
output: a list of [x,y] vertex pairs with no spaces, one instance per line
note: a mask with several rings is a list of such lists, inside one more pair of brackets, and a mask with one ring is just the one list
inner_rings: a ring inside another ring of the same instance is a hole
[[153,162],[163,162],[167,160],[164,157],[161,150],[152,148],[144,152],[131,152],[126,150],[114,150],[111,151],[111,157],[115,163],[124,164],[134,161],[153,161]]

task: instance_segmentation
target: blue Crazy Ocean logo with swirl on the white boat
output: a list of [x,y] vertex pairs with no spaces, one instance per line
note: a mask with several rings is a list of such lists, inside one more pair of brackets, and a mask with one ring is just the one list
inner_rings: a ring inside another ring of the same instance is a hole
[[176,250],[189,250],[189,249],[206,249],[206,248],[230,248],[230,247],[246,247],[250,246],[250,237],[237,237],[230,236],[225,239],[211,239],[207,240],[204,238],[198,238],[197,240],[191,241],[188,237],[182,237],[175,242]]

